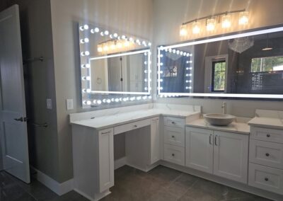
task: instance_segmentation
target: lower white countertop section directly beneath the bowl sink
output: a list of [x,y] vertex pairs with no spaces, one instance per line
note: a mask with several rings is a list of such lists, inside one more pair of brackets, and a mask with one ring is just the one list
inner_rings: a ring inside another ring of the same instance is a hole
[[235,132],[239,134],[250,134],[250,126],[246,122],[246,120],[243,120],[246,118],[237,117],[236,121],[231,122],[231,124],[227,126],[214,126],[210,125],[209,122],[204,120],[203,118],[187,121],[186,125],[191,127],[200,127],[210,130],[219,130],[219,131],[226,131],[226,132]]

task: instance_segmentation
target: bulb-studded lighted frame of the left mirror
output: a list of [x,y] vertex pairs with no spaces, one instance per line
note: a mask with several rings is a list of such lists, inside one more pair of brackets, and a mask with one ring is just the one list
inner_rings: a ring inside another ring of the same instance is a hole
[[[117,32],[110,33],[110,31],[105,30],[103,26],[96,25],[96,23],[78,23],[79,30],[79,57],[80,57],[80,69],[81,69],[81,103],[83,108],[95,107],[101,104],[110,103],[122,103],[122,102],[137,102],[137,101],[147,101],[151,99],[151,42],[149,40],[144,40],[143,38],[137,38],[133,35],[123,35],[117,34]],[[97,30],[97,31],[96,31]],[[113,30],[115,31],[115,30]],[[121,52],[115,52],[111,54],[104,55],[91,55],[90,48],[88,47],[89,36],[91,34],[99,34],[109,37],[112,35],[117,40],[128,40],[133,42],[135,45],[139,45],[140,48],[135,48],[133,50],[122,50]],[[115,36],[116,35],[116,36]],[[86,40],[87,39],[87,40]],[[91,91],[91,60],[92,59],[103,59],[110,57],[119,57],[122,55],[130,54],[147,54],[147,62],[143,65],[147,65],[144,73],[146,74],[145,82],[147,86],[144,88],[144,92],[127,92],[127,91]],[[93,97],[97,95],[98,97]],[[113,97],[111,97],[111,95]]]

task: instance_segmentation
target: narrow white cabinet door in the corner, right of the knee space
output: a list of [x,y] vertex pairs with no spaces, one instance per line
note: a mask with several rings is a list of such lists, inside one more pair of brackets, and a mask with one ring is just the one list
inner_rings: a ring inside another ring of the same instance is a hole
[[151,152],[150,164],[160,160],[159,117],[151,119]]

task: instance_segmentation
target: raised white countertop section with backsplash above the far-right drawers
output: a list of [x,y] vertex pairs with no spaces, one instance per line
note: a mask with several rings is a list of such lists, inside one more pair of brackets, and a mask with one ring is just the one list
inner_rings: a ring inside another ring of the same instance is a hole
[[248,122],[248,125],[283,129],[283,111],[256,110],[255,117]]

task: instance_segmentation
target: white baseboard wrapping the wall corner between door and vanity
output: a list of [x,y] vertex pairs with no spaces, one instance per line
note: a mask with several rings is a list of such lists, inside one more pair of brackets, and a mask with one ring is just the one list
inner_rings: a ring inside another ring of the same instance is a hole
[[47,188],[50,188],[50,190],[52,190],[57,195],[64,195],[65,193],[74,190],[74,179],[67,180],[64,183],[59,183],[56,180],[50,178],[50,176],[47,176],[45,173],[37,170],[36,168],[31,168],[36,172],[36,174],[34,175],[36,180],[45,185]]

